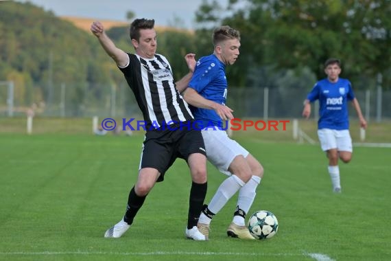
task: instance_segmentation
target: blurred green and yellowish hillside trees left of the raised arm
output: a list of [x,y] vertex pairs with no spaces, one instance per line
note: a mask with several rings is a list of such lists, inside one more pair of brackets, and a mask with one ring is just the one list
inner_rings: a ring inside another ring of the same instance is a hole
[[58,104],[62,83],[80,101],[84,95],[72,90],[78,84],[112,80],[109,58],[91,33],[29,2],[3,1],[0,7],[0,78],[16,79],[17,101],[29,105],[35,86],[46,102]]

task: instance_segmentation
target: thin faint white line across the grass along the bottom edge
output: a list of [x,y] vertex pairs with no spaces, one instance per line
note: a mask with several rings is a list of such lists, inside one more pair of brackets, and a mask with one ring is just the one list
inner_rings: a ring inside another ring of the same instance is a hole
[[60,256],[60,255],[117,255],[117,256],[303,256],[300,253],[233,253],[233,252],[146,252],[146,253],[132,253],[132,252],[0,252],[0,255],[10,256]]

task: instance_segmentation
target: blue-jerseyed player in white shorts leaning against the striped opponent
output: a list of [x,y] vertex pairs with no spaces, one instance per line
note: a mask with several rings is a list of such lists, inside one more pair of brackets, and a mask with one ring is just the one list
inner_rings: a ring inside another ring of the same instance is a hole
[[224,25],[213,32],[213,54],[198,60],[184,98],[191,104],[195,120],[202,126],[206,157],[220,172],[228,175],[205,205],[198,229],[209,237],[211,219],[239,191],[237,207],[227,234],[235,238],[254,239],[246,227],[245,216],[263,177],[263,167],[250,153],[222,130],[222,120],[233,118],[233,110],[225,105],[228,89],[225,69],[239,56],[240,35]]

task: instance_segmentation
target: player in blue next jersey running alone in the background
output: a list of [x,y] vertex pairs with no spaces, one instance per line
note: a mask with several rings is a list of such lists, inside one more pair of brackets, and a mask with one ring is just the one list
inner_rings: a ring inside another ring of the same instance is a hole
[[359,102],[353,93],[352,84],[340,78],[341,63],[330,58],[324,63],[327,78],[316,82],[304,102],[303,116],[308,119],[311,114],[311,102],[319,100],[318,137],[320,146],[329,158],[329,174],[333,192],[341,192],[340,168],[338,158],[344,163],[352,159],[352,139],[349,133],[348,101],[353,102],[359,123],[366,128]]

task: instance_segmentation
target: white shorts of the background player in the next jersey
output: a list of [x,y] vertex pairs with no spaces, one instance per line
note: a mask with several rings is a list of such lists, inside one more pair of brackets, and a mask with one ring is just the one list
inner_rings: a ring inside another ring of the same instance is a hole
[[320,147],[323,151],[337,148],[338,151],[353,152],[352,138],[348,130],[331,130],[322,128],[318,130]]

